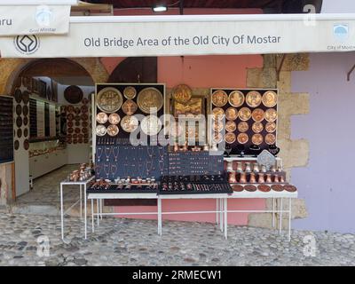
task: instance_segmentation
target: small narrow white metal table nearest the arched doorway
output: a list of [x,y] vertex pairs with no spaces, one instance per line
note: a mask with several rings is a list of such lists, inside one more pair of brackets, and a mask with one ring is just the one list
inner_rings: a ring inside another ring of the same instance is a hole
[[[60,183],[60,225],[61,225],[61,239],[64,240],[64,216],[67,214],[67,212],[75,207],[77,203],[80,202],[80,217],[83,218],[83,209],[84,209],[84,232],[85,232],[85,239],[87,237],[87,228],[86,228],[86,214],[87,214],[87,206],[86,206],[86,189],[88,183],[91,182],[92,179],[94,179],[95,176],[92,176],[86,180],[83,181],[68,181],[64,180]],[[63,204],[63,189],[65,185],[79,185],[79,190],[80,190],[80,198],[79,200],[75,201],[66,211],[64,211],[64,204]],[[83,200],[84,200],[84,207],[83,207]]]

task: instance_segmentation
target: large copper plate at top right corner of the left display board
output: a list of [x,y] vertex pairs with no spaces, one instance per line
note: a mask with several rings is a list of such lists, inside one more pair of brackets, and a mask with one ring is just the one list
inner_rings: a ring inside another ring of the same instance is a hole
[[157,113],[162,108],[163,103],[162,92],[154,87],[143,89],[138,93],[137,104],[145,114]]

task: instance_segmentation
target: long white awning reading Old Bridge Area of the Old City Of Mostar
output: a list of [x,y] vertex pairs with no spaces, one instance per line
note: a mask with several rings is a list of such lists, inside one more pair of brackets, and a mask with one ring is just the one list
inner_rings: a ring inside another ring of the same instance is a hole
[[[72,17],[67,36],[2,37],[0,49],[7,58],[355,51],[354,14],[312,17]],[[36,44],[26,51],[19,41]]]

